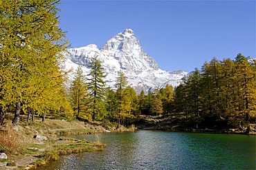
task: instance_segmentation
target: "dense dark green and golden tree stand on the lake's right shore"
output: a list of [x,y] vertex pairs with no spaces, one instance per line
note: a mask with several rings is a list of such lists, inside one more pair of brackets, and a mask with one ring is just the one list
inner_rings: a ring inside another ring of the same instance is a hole
[[255,123],[256,70],[238,54],[235,61],[213,58],[175,89],[175,112],[185,114],[190,126],[224,129]]

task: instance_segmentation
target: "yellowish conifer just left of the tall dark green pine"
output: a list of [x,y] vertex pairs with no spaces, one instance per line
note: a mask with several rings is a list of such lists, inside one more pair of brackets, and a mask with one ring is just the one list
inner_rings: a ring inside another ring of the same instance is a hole
[[75,116],[91,120],[91,110],[89,109],[90,96],[81,67],[78,67],[75,72],[75,78],[71,83],[69,93]]

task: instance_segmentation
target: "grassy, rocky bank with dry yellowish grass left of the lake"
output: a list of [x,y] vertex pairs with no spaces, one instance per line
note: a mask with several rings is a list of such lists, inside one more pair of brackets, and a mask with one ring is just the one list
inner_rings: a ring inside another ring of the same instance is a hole
[[[100,142],[89,142],[66,138],[65,134],[98,134],[111,131],[133,131],[109,122],[84,123],[79,120],[46,119],[44,123],[36,119],[34,123],[26,123],[21,118],[19,125],[13,126],[6,120],[5,127],[0,128],[0,153],[8,156],[0,161],[0,169],[33,169],[48,161],[57,160],[62,155],[85,151],[100,151],[107,147]],[[35,136],[44,136],[41,140]]]

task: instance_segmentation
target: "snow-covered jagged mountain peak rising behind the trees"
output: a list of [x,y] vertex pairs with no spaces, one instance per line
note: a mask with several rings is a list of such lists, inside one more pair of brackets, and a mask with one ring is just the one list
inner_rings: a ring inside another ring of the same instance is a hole
[[[134,87],[138,94],[142,90],[147,93],[152,89],[165,87],[167,84],[176,87],[188,74],[182,70],[173,72],[161,70],[156,61],[144,52],[131,29],[116,34],[101,48],[95,44],[69,48],[65,54],[64,70],[70,70],[73,67],[75,72],[80,65],[84,74],[87,74],[89,61],[95,55],[102,61],[102,67],[107,74],[105,79],[107,86],[113,89],[115,89],[116,77],[120,70],[125,73],[128,84]],[[71,79],[72,77],[71,74]]]

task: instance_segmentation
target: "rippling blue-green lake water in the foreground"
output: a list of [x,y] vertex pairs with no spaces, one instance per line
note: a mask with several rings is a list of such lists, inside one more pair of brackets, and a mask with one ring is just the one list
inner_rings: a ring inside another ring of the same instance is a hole
[[39,169],[255,169],[255,136],[139,130],[68,137],[100,138],[107,148]]

